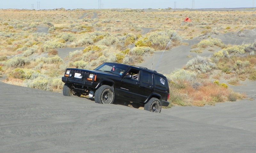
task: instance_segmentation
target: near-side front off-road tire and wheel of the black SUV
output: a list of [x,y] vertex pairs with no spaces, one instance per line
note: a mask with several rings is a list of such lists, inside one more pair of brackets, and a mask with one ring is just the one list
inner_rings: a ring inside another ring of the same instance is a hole
[[115,99],[114,88],[109,85],[102,85],[95,92],[95,103],[112,104]]

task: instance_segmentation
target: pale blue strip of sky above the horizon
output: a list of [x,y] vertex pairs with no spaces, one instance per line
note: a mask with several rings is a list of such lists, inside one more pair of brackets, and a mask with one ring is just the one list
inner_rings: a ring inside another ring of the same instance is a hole
[[[254,0],[0,0],[0,9],[165,9],[256,7]],[[0,15],[1,18],[1,15]]]

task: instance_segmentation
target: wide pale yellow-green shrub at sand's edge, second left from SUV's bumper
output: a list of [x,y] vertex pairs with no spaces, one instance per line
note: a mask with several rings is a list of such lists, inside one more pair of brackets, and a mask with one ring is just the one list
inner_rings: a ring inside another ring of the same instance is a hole
[[49,86],[49,81],[45,77],[37,77],[33,80],[26,79],[23,81],[23,84],[30,88],[52,91],[51,87]]

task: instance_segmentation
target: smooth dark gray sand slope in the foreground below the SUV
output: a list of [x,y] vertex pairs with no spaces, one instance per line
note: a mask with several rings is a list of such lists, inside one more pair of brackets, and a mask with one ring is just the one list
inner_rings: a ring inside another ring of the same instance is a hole
[[256,150],[254,101],[151,113],[3,82],[0,86],[1,153]]

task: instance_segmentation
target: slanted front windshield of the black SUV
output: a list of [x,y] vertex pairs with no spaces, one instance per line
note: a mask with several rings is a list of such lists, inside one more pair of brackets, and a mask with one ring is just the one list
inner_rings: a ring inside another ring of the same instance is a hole
[[129,67],[118,63],[103,63],[95,70],[122,75]]

